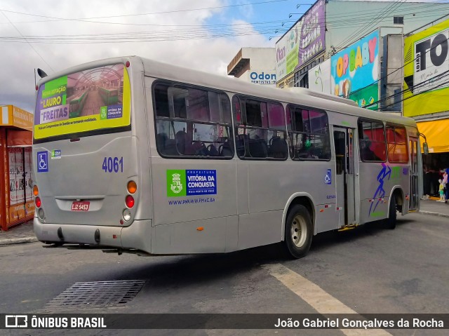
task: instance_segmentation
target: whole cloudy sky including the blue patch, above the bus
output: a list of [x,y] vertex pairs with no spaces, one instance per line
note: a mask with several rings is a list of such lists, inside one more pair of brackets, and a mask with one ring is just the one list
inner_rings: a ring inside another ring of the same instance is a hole
[[53,74],[117,56],[226,76],[240,48],[274,47],[314,2],[133,0],[123,6],[108,0],[105,6],[104,0],[2,0],[0,104],[32,112],[38,67]]

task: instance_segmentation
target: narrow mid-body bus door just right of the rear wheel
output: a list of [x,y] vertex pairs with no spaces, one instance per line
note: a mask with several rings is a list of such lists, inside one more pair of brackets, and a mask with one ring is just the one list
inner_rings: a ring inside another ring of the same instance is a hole
[[340,226],[356,223],[354,192],[354,130],[334,127],[335,189]]

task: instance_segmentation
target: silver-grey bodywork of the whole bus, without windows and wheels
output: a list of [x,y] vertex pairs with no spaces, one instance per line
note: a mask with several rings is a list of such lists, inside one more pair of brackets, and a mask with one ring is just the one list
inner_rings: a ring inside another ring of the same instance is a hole
[[[43,220],[34,219],[40,241],[61,241],[58,235],[61,229],[64,242],[69,243],[138,249],[153,254],[224,253],[282,241],[288,208],[298,197],[311,203],[314,234],[386,218],[395,189],[401,189],[403,213],[407,212],[410,180],[406,169],[410,165],[362,162],[357,141],[358,119],[403,124],[408,132],[415,130],[415,121],[316,98],[306,91],[264,88],[137,57],[91,62],[69,72],[117,62],[124,64],[127,60],[131,64],[130,131],[81,137],[79,142],[66,139],[34,145],[35,158],[37,152],[61,151],[60,159],[49,160],[48,173],[37,173],[34,165],[46,213]],[[331,159],[293,161],[290,156],[286,161],[240,159],[235,145],[232,159],[161,157],[156,149],[152,98],[152,85],[158,79],[219,90],[231,101],[239,94],[278,101],[283,107],[295,104],[326,112]],[[114,97],[107,99],[114,103]],[[354,203],[351,216],[355,220],[351,223],[345,222],[344,213],[337,208],[334,126],[354,134],[350,201]],[[109,158],[114,161],[122,157],[123,173],[121,168],[120,172],[109,171],[114,170],[109,169]],[[421,164],[420,155],[417,160]],[[71,182],[64,184],[67,172]],[[177,174],[192,177],[195,172],[214,176],[215,191],[182,196],[170,191],[176,189]],[[130,179],[138,182],[138,192],[133,195],[136,204],[131,209],[132,220],[121,224],[126,208],[126,183]],[[380,200],[374,203],[375,198]],[[72,211],[73,201],[78,200],[90,201],[92,208],[86,212]],[[97,230],[100,243],[95,241]]]

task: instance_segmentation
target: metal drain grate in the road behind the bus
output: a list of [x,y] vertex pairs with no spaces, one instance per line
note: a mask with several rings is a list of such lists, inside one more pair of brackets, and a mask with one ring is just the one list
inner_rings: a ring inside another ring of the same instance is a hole
[[133,300],[145,280],[78,282],[48,302],[43,311],[110,307]]

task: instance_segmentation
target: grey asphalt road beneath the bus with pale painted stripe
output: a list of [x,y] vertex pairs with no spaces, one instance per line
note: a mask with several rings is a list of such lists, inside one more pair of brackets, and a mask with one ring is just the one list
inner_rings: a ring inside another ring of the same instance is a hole
[[[316,236],[309,255],[301,260],[287,260],[279,246],[227,255],[164,257],[43,248],[41,243],[4,246],[0,247],[0,313],[46,311],[48,302],[77,282],[143,280],[142,290],[125,304],[102,309],[86,306],[72,312],[305,314],[324,309],[449,314],[448,242],[447,218],[410,214],[398,217],[392,231],[370,225]],[[448,330],[384,331],[382,335],[448,334]],[[20,335],[156,333],[349,335],[338,329],[32,330]]]

